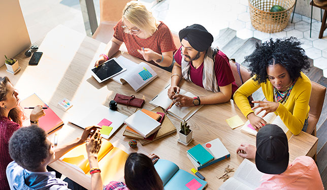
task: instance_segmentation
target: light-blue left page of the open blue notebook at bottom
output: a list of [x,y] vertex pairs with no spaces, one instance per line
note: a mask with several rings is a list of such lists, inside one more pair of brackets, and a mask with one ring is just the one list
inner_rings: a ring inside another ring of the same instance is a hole
[[164,186],[170,178],[179,170],[178,166],[168,160],[159,159],[154,165],[155,170],[158,172]]

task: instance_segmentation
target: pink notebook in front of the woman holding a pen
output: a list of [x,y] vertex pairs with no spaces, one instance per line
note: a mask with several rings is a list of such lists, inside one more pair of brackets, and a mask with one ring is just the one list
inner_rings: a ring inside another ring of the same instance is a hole
[[[26,99],[22,100],[20,106],[24,107],[35,107],[35,106],[42,106],[47,107],[44,109],[45,115],[40,117],[39,119],[39,126],[44,129],[47,133],[51,133],[55,129],[59,128],[59,126],[63,125],[62,120],[58,117],[54,111],[49,108],[47,104],[45,104],[37,94],[32,94],[31,96],[27,97]],[[32,109],[24,109],[24,114],[26,115],[26,119],[23,121],[24,126],[30,125],[29,115],[32,112]]]

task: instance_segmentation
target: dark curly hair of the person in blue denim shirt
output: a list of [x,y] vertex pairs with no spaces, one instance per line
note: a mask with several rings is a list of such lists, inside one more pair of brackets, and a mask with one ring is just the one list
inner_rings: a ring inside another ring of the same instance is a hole
[[24,169],[35,170],[49,156],[47,136],[37,125],[20,128],[9,140],[10,157]]

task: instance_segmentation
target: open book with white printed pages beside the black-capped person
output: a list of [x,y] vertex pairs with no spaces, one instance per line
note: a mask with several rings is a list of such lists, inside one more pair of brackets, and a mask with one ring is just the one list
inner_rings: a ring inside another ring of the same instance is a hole
[[261,173],[256,169],[255,164],[244,159],[233,177],[227,179],[220,187],[220,190],[251,190],[260,186]]

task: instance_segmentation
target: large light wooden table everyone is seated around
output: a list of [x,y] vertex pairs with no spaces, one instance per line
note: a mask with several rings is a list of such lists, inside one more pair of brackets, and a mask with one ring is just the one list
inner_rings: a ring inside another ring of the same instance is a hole
[[[43,101],[49,103],[51,109],[66,123],[58,131],[58,145],[70,142],[82,134],[80,128],[67,124],[70,117],[89,112],[100,104],[108,106],[116,92],[126,95],[135,94],[137,98],[144,96],[146,103],[143,108],[153,109],[154,106],[149,104],[150,100],[170,84],[171,73],[152,65],[150,67],[158,74],[158,78],[138,93],[128,84],[120,85],[113,80],[98,83],[91,77],[90,68],[105,48],[105,44],[62,25],[52,29],[36,45],[39,45],[39,51],[43,52],[38,66],[28,66],[29,58],[26,58],[22,52],[15,57],[19,60],[21,67],[19,73],[16,75],[9,74],[6,72],[5,66],[0,68],[0,72],[2,76],[10,78],[15,88],[19,90],[19,97],[25,98],[34,92],[37,93]],[[140,62],[139,59],[126,53],[122,53],[122,56]],[[181,82],[181,88],[197,96],[212,93],[184,80]],[[73,102],[71,109],[64,111],[57,105],[63,98]],[[126,115],[133,114],[135,110],[135,107],[123,105],[119,105],[118,108],[118,111]],[[236,153],[238,146],[242,142],[255,145],[254,136],[241,133],[240,128],[232,130],[228,126],[225,119],[234,115],[239,115],[244,122],[246,121],[232,100],[224,104],[206,105],[201,108],[188,120],[191,130],[193,130],[194,140],[187,147],[177,143],[178,134],[175,133],[145,146],[139,144],[137,149],[132,149],[127,143],[129,139],[122,136],[123,129],[120,129],[110,139],[110,142],[127,153],[135,151],[145,154],[156,153],[162,159],[170,160],[181,169],[191,172],[190,169],[193,168],[193,165],[186,156],[186,150],[199,143],[204,144],[219,138],[230,151],[231,157],[201,170],[208,181],[207,189],[217,189],[222,184],[222,180],[217,179],[216,176],[228,164],[237,168],[243,161],[243,158]],[[179,120],[170,115],[168,117],[176,127],[179,127]],[[49,138],[53,140],[53,133],[49,135]],[[314,155],[317,140],[316,137],[303,132],[298,136],[293,136],[289,140],[290,161],[300,155]],[[51,167],[90,189],[90,178],[66,163],[56,161],[51,164]]]

